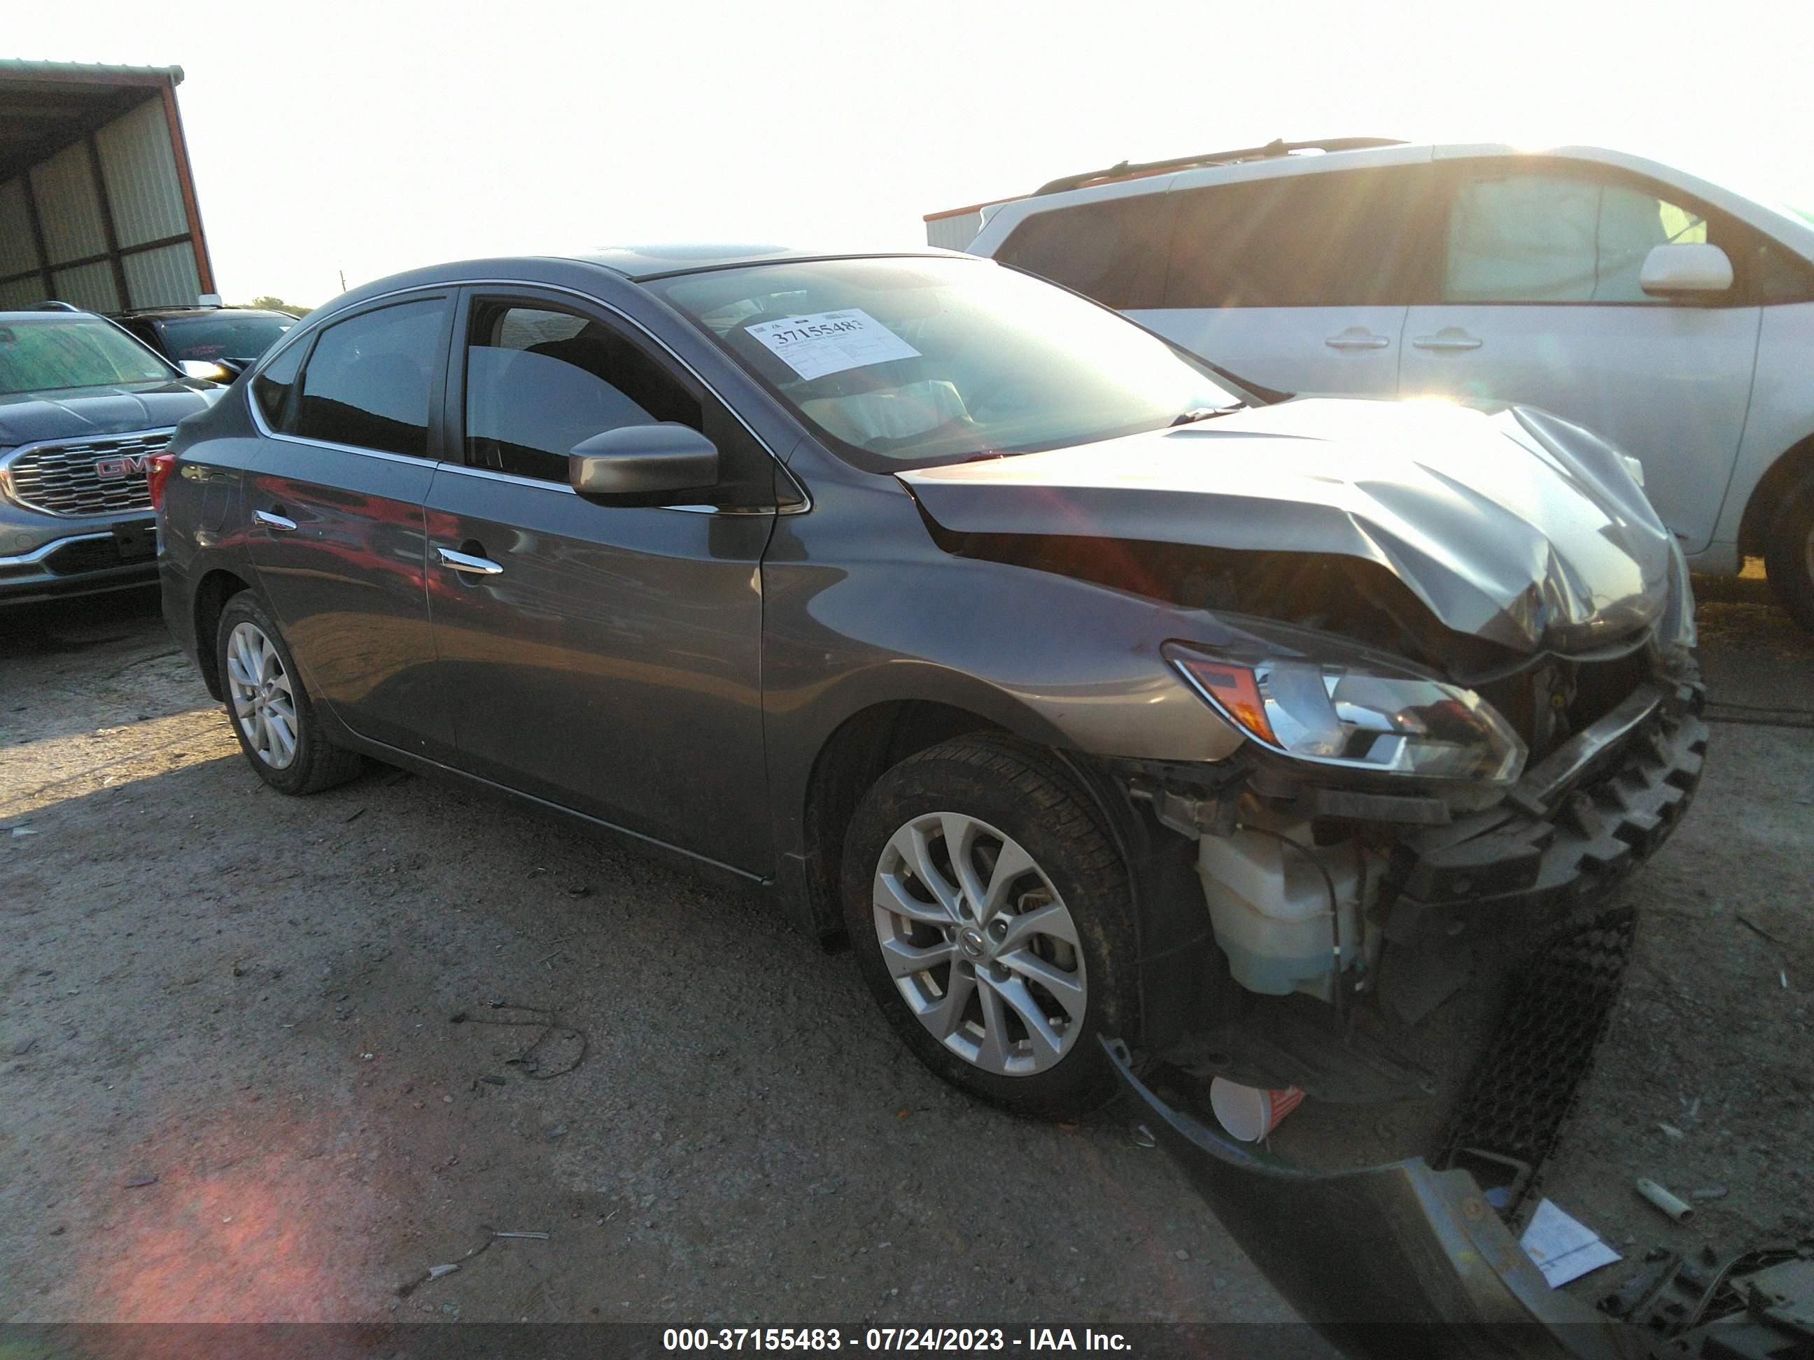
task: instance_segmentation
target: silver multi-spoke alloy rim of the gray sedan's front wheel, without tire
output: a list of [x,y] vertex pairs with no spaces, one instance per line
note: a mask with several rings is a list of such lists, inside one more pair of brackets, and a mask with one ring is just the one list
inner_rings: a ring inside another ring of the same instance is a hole
[[902,999],[945,1048],[1007,1077],[1045,1072],[1083,1030],[1078,925],[1010,836],[927,812],[889,836],[874,925]]

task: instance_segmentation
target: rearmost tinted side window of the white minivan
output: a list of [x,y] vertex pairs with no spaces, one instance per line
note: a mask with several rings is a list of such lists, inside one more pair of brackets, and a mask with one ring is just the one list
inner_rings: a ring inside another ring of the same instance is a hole
[[1159,306],[1172,210],[1170,194],[1148,192],[1036,212],[1009,234],[994,257],[1105,306]]

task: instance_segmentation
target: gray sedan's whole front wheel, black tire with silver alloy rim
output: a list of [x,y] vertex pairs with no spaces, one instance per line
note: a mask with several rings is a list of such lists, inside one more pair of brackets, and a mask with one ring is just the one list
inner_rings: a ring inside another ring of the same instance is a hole
[[1116,1093],[1097,1035],[1137,1015],[1128,870],[1052,756],[967,736],[891,769],[845,834],[844,912],[863,981],[934,1073],[1045,1119]]

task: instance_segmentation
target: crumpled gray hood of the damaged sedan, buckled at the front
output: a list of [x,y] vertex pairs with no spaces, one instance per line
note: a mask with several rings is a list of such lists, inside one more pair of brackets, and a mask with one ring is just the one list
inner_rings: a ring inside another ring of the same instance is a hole
[[1669,598],[1673,540],[1618,450],[1531,406],[1301,397],[900,479],[956,533],[1366,559],[1520,653],[1614,642]]

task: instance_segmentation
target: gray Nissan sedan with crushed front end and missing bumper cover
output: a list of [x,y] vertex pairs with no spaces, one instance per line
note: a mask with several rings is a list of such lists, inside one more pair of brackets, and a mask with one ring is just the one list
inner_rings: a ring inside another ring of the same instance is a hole
[[764,885],[1065,1115],[1105,1035],[1315,1092],[1667,838],[1705,727],[1634,468],[983,259],[646,248],[350,292],[151,482],[274,789],[375,758]]

